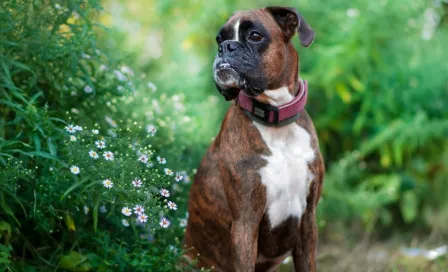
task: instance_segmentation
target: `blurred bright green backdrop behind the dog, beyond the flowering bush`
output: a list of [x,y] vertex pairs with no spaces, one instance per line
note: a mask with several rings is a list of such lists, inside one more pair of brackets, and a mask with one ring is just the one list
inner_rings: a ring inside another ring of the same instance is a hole
[[230,104],[211,75],[218,29],[235,10],[297,8],[317,33],[310,48],[301,48],[297,37],[294,44],[327,167],[321,240],[348,248],[395,238],[402,245],[446,243],[446,1],[104,3],[102,22],[120,30],[104,35],[105,45],[125,48],[160,92],[185,96],[187,113],[199,123],[193,166]]

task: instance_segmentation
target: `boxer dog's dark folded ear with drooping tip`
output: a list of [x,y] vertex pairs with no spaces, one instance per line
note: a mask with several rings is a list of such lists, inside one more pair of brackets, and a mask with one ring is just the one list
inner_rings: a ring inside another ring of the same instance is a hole
[[310,46],[314,41],[316,33],[308,25],[295,8],[267,7],[266,10],[274,17],[277,24],[283,30],[285,39],[289,41],[294,34],[299,32],[300,44],[304,47]]

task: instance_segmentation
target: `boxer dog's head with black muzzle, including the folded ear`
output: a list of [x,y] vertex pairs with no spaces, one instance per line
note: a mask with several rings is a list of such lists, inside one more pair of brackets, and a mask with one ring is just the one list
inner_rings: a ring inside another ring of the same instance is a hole
[[298,55],[291,38],[296,32],[302,46],[311,45],[314,31],[294,8],[267,7],[230,17],[216,36],[213,67],[216,86],[225,99],[236,98],[241,90],[257,96],[266,89],[294,84]]

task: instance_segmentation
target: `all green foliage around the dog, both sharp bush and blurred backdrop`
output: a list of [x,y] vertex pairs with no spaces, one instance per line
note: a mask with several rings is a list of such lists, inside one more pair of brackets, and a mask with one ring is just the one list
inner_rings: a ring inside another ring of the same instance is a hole
[[[229,105],[211,76],[214,37],[234,10],[267,2],[1,1],[0,264],[189,271],[176,266],[189,176]],[[447,235],[447,4],[294,6],[317,33],[310,48],[294,43],[327,166],[324,237],[338,226]],[[122,212],[137,204],[144,224]]]

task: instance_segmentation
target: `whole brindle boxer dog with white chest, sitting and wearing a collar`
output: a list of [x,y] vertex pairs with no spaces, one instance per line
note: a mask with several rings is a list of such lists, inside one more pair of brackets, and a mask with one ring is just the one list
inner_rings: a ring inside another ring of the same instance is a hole
[[291,43],[314,31],[293,8],[237,12],[216,38],[215,82],[235,99],[192,185],[185,246],[198,267],[273,271],[292,255],[316,271],[324,163],[303,110],[307,84]]

